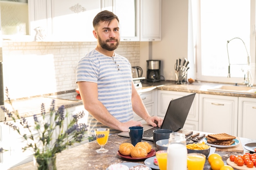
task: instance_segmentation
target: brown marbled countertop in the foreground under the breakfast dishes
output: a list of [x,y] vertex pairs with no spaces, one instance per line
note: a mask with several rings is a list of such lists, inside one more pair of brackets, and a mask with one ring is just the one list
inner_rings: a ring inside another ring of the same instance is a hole
[[[186,133],[188,130],[180,130],[180,132]],[[144,141],[144,140],[142,140]],[[243,146],[250,142],[256,142],[256,140],[240,138]],[[97,153],[95,150],[100,148],[97,144],[97,141],[92,141],[86,144],[81,144],[79,146],[75,146],[68,150],[64,150],[63,152],[57,155],[57,170],[106,170],[108,166],[113,163],[123,163],[123,162],[136,162],[136,163],[144,163],[143,161],[131,161],[128,159],[124,159],[117,155],[117,151],[119,149],[119,145],[128,142],[130,143],[130,138],[121,137],[117,134],[110,135],[108,138],[108,143],[104,146],[104,148],[108,149],[107,153]],[[152,149],[156,150],[156,146],[153,141],[147,141],[151,144]],[[244,152],[248,152],[244,150]],[[222,156],[223,161],[226,164],[226,160],[229,158],[231,154],[241,155],[243,152],[225,152],[225,151],[216,151]],[[31,170],[33,169],[33,161],[22,164],[20,166],[16,166],[11,168],[10,170]],[[210,165],[206,160],[204,165],[204,170],[209,170]]]

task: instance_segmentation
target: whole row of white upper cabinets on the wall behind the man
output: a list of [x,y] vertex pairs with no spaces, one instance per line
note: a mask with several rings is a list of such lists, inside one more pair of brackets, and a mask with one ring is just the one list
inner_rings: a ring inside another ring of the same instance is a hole
[[[1,1],[2,24],[9,22],[2,33],[14,41],[22,34],[21,41],[96,42],[92,21],[103,10],[118,16],[121,41],[161,40],[162,0]],[[10,13],[15,16],[10,18]],[[18,21],[15,26],[10,26],[12,19]]]

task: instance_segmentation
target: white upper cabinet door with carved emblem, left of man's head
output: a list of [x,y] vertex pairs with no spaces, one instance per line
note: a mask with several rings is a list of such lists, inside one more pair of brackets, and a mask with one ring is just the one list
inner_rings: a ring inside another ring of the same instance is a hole
[[100,0],[52,0],[52,39],[95,42],[92,21]]

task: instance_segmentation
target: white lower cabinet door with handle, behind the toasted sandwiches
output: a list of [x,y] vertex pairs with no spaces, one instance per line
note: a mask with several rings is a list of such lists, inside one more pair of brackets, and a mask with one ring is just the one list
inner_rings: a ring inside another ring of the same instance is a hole
[[237,136],[238,97],[200,94],[199,130]]

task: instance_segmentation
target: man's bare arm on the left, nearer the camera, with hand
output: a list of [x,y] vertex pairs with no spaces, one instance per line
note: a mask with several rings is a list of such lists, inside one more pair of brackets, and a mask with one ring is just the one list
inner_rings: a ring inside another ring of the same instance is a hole
[[97,83],[77,82],[85,110],[102,124],[121,131],[128,131],[130,126],[142,126],[139,121],[121,123],[113,117],[98,99]]

